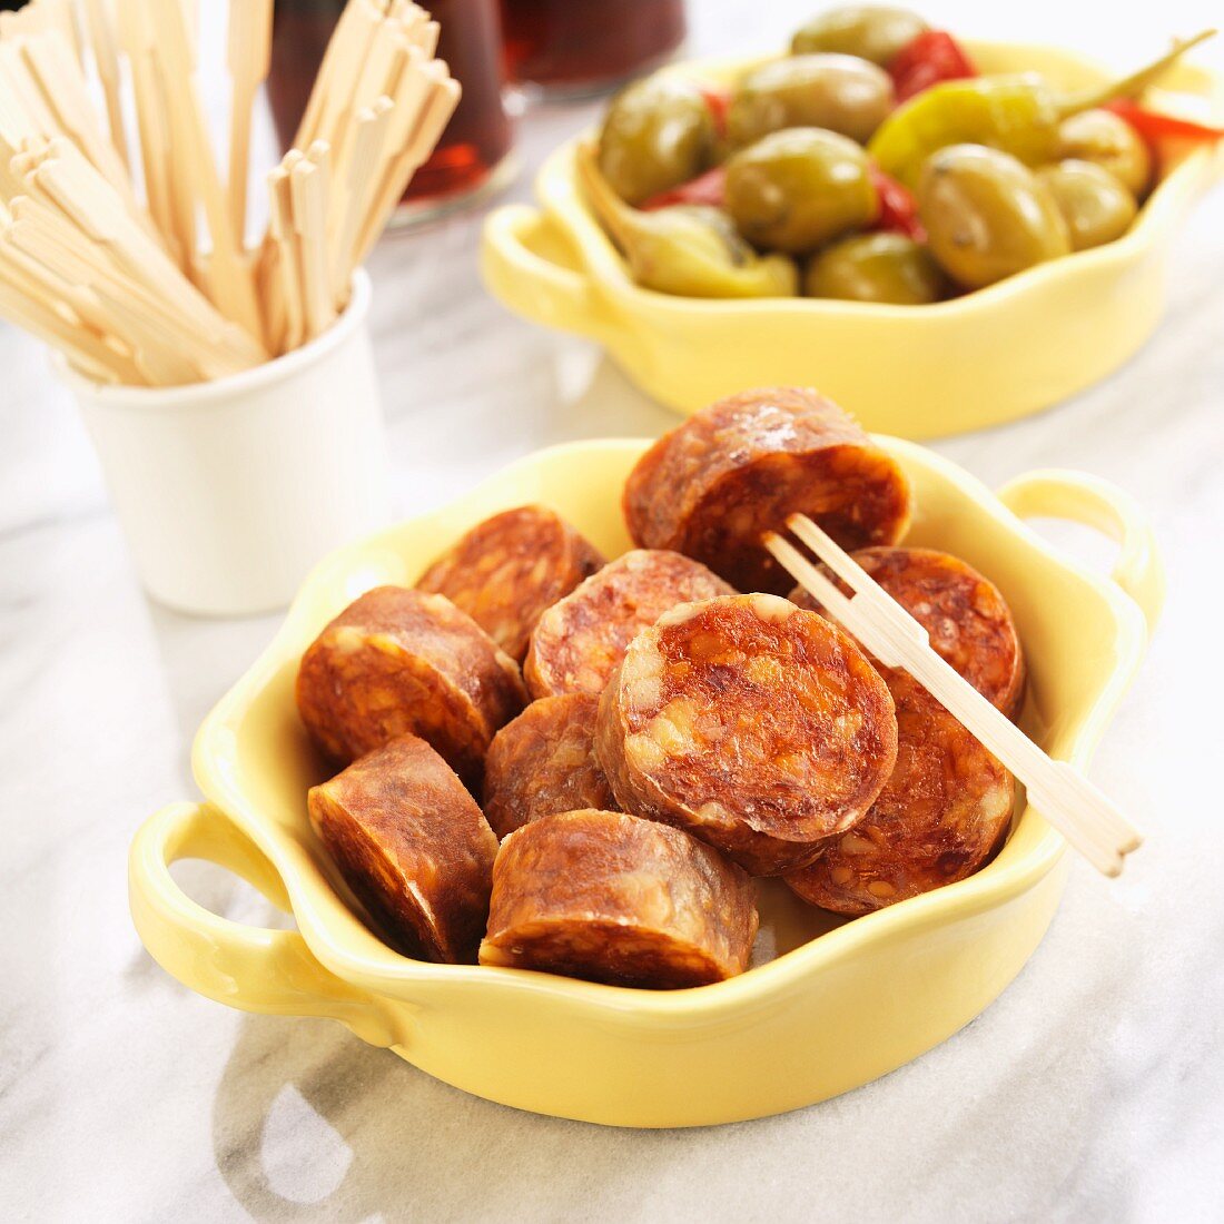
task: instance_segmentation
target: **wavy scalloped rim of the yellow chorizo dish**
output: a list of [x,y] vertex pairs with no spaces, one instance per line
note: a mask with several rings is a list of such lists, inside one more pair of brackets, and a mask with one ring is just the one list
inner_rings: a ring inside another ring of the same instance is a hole
[[[924,465],[933,469],[940,480],[955,485],[968,496],[982,514],[1004,524],[1027,548],[1073,574],[1109,606],[1116,627],[1119,662],[1092,705],[1077,717],[1072,749],[1066,758],[1072,764],[1086,765],[1142,659],[1147,643],[1143,613],[1113,581],[1082,568],[1047,543],[1022,519],[1007,510],[980,481],[950,460],[902,439],[875,436],[875,441],[907,466]],[[498,483],[513,481],[517,475],[539,465],[545,457],[556,459],[567,454],[581,455],[608,449],[629,455],[640,453],[650,442],[649,438],[606,438],[548,447],[520,458],[446,506],[414,517],[409,521],[428,520]],[[351,575],[360,570],[362,558],[376,554],[384,547],[386,541],[401,529],[403,524],[392,526],[365,541],[344,546],[316,567],[304,583],[272,643],[204,718],[192,747],[193,771],[204,794],[251,836],[280,871],[299,929],[311,951],[338,977],[379,994],[411,1002],[416,985],[446,983],[449,987],[464,985],[480,989],[491,985],[496,976],[497,984],[503,988],[565,996],[572,1002],[590,1006],[596,1012],[617,1016],[621,1020],[673,1022],[684,1027],[692,1027],[695,1022],[727,1022],[742,1016],[745,1006],[750,1004],[763,1006],[778,994],[794,988],[800,980],[859,953],[873,942],[886,940],[902,931],[930,929],[950,918],[972,916],[1004,905],[1053,870],[1066,851],[1061,834],[1047,826],[1032,849],[1013,863],[995,859],[976,875],[857,918],[737,978],[685,990],[650,991],[580,982],[548,973],[487,966],[432,965],[400,956],[365,928],[362,928],[367,936],[367,940],[362,941],[365,951],[341,944],[333,938],[327,924],[318,920],[315,906],[311,903],[311,895],[319,886],[329,887],[329,885],[323,880],[306,876],[308,858],[301,847],[284,842],[257,818],[247,818],[246,804],[241,802],[240,794],[240,802],[231,802],[231,794],[236,788],[231,788],[228,783],[225,756],[220,749],[226,742],[233,743],[236,739],[239,723],[255,695],[295,652],[293,641],[318,622],[318,616],[313,611],[318,599],[316,592],[330,588],[340,575]],[[1012,837],[1023,825],[1040,819],[1026,803],[1012,829]],[[311,869],[317,871],[317,868]]]

